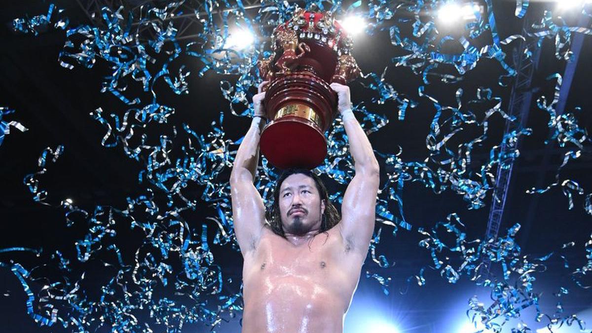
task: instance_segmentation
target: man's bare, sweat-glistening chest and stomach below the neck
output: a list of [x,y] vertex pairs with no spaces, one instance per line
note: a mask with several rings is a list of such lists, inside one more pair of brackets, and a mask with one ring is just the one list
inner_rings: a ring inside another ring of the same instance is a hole
[[365,257],[346,251],[338,229],[300,244],[263,229],[244,257],[243,332],[343,331]]

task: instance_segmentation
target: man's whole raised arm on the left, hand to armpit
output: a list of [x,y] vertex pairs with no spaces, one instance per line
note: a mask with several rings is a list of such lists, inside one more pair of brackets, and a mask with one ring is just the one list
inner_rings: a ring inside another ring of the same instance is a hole
[[243,257],[255,249],[265,224],[265,205],[253,184],[259,163],[259,137],[265,126],[262,107],[265,92],[261,92],[263,84],[265,82],[259,85],[258,94],[253,96],[255,117],[240,143],[230,174],[234,234]]

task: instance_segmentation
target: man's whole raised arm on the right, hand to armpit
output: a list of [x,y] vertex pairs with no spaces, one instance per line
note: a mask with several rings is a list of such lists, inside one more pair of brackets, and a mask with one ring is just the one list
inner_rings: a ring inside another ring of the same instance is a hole
[[338,110],[342,114],[343,127],[348,135],[349,150],[356,170],[343,196],[342,221],[339,226],[346,248],[365,258],[374,232],[376,196],[380,181],[378,161],[366,133],[353,116],[349,87],[333,83],[331,88],[337,92]]

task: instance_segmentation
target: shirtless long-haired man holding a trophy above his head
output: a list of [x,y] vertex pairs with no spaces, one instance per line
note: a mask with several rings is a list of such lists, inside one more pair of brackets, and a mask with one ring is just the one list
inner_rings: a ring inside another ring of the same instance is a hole
[[266,213],[253,185],[265,125],[262,86],[230,177],[234,231],[244,258],[243,332],[343,332],[374,231],[378,162],[353,116],[349,87],[334,83],[356,172],[343,196],[342,217],[320,178],[303,169],[278,179]]

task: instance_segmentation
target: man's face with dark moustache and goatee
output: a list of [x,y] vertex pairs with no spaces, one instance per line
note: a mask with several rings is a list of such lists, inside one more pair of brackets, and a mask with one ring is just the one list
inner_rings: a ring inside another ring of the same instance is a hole
[[321,200],[313,178],[303,174],[289,175],[279,192],[279,212],[284,231],[303,235],[320,228],[325,203]]

